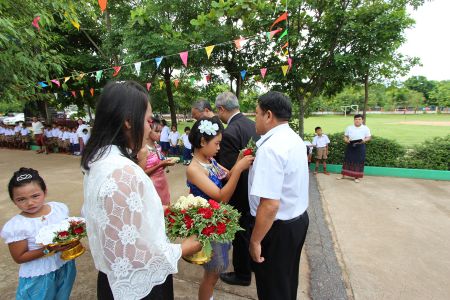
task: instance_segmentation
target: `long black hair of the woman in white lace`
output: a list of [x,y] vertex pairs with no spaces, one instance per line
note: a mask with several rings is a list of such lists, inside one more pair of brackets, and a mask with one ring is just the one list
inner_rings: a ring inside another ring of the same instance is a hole
[[[144,138],[144,118],[148,105],[147,91],[137,82],[109,82],[97,103],[94,127],[83,150],[81,167],[89,170],[89,164],[109,151],[109,147],[106,147],[109,145],[116,145],[123,156],[136,161]],[[131,126],[130,139],[125,134],[125,121]]]

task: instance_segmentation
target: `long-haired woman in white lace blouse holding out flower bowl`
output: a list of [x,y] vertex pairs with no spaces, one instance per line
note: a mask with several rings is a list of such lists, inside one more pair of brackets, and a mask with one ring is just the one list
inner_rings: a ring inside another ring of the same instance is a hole
[[108,83],[83,152],[83,215],[99,271],[98,299],[173,299],[178,260],[201,247],[195,237],[181,245],[168,241],[161,200],[136,164],[151,117],[142,86]]

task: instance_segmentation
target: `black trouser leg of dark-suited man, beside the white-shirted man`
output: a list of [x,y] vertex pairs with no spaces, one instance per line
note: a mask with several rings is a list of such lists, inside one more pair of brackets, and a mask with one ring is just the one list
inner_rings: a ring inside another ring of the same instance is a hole
[[239,225],[244,231],[236,232],[233,240],[233,267],[236,276],[244,280],[252,278],[251,257],[248,251],[250,242],[251,215],[242,213]]

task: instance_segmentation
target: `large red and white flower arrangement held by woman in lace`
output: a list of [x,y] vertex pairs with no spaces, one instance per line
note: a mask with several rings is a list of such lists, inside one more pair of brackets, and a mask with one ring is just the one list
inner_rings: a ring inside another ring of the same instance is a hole
[[174,240],[197,235],[206,256],[211,256],[211,241],[231,242],[239,226],[240,213],[228,204],[188,195],[180,197],[165,213],[167,236]]

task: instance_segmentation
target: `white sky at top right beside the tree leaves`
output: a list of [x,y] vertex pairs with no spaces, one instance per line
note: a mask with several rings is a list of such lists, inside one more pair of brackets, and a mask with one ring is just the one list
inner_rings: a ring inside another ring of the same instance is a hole
[[450,80],[450,0],[426,0],[410,13],[416,24],[406,31],[400,52],[419,57],[422,67],[412,68],[404,79],[423,75],[429,80]]

